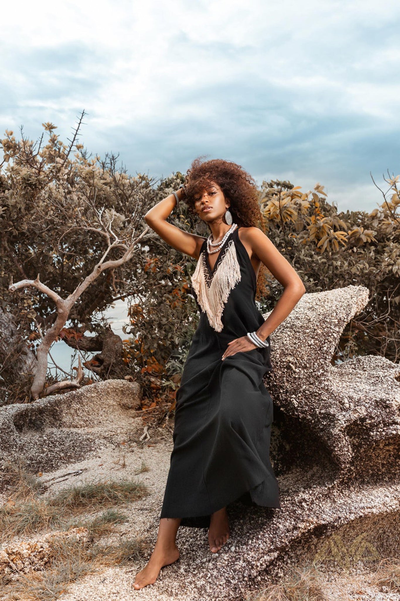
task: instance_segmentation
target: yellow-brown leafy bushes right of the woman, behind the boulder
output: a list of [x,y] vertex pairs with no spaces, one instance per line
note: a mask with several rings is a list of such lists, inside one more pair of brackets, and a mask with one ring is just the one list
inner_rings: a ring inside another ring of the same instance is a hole
[[[260,203],[267,234],[293,264],[307,292],[365,285],[368,306],[348,324],[334,361],[354,355],[400,358],[400,198],[399,176],[385,178],[383,203],[371,213],[338,213],[324,186],[301,192],[290,182],[263,182]],[[270,310],[281,294],[267,282]]]

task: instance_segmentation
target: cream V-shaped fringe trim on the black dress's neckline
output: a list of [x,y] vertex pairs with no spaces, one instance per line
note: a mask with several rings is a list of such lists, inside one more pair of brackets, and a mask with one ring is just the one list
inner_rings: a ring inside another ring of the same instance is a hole
[[[224,250],[221,249],[220,252],[224,252]],[[216,332],[221,332],[223,328],[221,322],[222,312],[230,291],[240,281],[240,265],[237,261],[234,242],[230,240],[227,251],[216,266],[215,272],[213,272],[211,284],[207,285],[206,276],[209,274],[207,273],[206,252],[207,249],[204,250],[201,258],[197,261],[191,281],[201,310],[207,314],[210,326]]]

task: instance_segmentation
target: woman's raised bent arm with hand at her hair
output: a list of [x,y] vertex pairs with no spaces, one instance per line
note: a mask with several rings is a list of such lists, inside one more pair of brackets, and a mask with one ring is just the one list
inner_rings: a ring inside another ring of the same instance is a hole
[[[182,188],[176,194],[178,194],[179,200],[182,200],[182,194],[184,194]],[[172,246],[172,248],[198,259],[201,245],[206,239],[202,236],[196,236],[196,234],[181,230],[181,228],[166,221],[175,206],[176,198],[173,194],[163,198],[163,200],[160,200],[160,203],[155,204],[146,213],[146,224],[165,240],[167,244]]]

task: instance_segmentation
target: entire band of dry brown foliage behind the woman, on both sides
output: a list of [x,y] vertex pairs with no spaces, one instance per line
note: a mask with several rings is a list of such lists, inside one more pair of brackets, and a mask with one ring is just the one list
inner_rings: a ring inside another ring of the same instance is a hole
[[[22,368],[15,373],[10,366],[23,364],[17,359],[23,359],[24,353],[26,358],[29,353],[40,357],[41,345],[46,336],[47,343],[52,338],[49,332],[58,319],[57,299],[70,298],[97,265],[111,262],[76,299],[58,335],[83,353],[89,338],[85,332],[95,333],[101,349],[107,331],[101,311],[113,301],[128,299],[130,324],[125,328],[122,353],[118,348],[119,371],[100,373],[100,377],[129,374],[136,379],[145,392],[143,409],[160,423],[173,411],[199,318],[190,281],[195,261],[166,245],[152,230],[137,242],[127,266],[117,266],[115,261],[121,260],[125,246],[130,248],[136,232],[145,227],[146,210],[178,188],[184,175],[176,172],[161,182],[142,174],[133,177],[118,167],[116,156],[104,160],[89,156],[79,143],[80,123],[68,144],[56,135],[54,124],[43,126],[47,141],[44,136],[30,141],[23,132],[17,139],[10,131],[0,141],[4,151],[0,164],[0,312],[11,316],[18,330],[10,352],[0,345],[0,355],[4,355],[4,361],[0,357],[0,403],[26,400],[27,374]],[[348,284],[369,288],[368,307],[351,320],[334,361],[357,354],[380,354],[392,361],[400,358],[398,181],[399,176],[385,178],[387,191],[380,190],[383,202],[371,213],[338,213],[320,183],[307,192],[290,182],[263,182],[260,187],[267,234],[293,264],[308,292]],[[185,203],[168,219],[184,230],[208,235],[206,225],[194,221]],[[10,277],[29,281],[33,288],[19,287],[18,293],[11,294],[7,291]],[[55,305],[49,302],[47,289]],[[260,310],[271,310],[281,291],[281,285],[262,269],[256,297]],[[86,361],[85,367],[101,372],[97,360]],[[46,393],[44,371],[42,359],[34,396]],[[66,382],[72,379],[70,375]],[[52,386],[47,389],[57,389],[58,377],[48,375],[47,385]]]

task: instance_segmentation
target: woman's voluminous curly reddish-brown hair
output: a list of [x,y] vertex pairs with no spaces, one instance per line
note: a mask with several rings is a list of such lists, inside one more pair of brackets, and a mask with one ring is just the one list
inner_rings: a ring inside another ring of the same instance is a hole
[[233,222],[242,227],[263,227],[263,216],[258,203],[254,179],[240,165],[230,160],[202,160],[197,157],[187,171],[185,203],[196,215],[194,203],[210,182],[218,184],[224,197],[230,200]]

